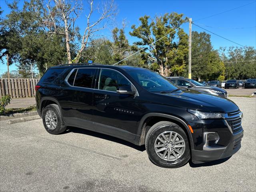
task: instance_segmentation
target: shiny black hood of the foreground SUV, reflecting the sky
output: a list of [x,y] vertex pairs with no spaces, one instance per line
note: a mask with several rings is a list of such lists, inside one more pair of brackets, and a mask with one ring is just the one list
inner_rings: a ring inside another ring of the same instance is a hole
[[[185,92],[166,93],[171,99],[171,105],[181,104],[183,107],[209,111],[209,112],[234,112],[238,110],[238,106],[229,99],[221,98],[211,94],[205,94],[202,92],[188,90]],[[169,102],[168,102],[169,103]]]

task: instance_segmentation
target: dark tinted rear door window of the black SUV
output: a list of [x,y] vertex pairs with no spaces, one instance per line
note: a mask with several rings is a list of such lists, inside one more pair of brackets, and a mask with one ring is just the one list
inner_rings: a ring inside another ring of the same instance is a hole
[[92,80],[96,72],[95,68],[80,68],[76,73],[74,86],[92,88]]

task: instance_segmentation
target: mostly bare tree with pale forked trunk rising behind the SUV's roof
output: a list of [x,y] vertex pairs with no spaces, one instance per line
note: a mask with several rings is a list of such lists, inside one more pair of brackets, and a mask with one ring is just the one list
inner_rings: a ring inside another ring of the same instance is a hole
[[[64,36],[68,63],[79,62],[88,43],[98,31],[106,27],[110,18],[116,15],[116,6],[113,0],[98,5],[94,5],[94,0],[90,0],[88,3],[88,14],[84,15],[86,28],[81,35],[80,28],[76,25],[76,19],[82,13],[82,1],[48,0],[45,3],[44,0],[31,0],[30,10],[37,14],[36,18],[40,26],[49,34]],[[96,20],[94,16],[94,21],[92,21],[95,10],[98,10],[99,16]],[[76,42],[78,49],[76,56],[72,57],[70,43],[75,44]]]

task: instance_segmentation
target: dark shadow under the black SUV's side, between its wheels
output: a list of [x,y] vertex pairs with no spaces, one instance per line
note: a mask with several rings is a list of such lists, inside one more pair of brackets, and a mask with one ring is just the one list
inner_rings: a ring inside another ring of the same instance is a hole
[[145,145],[138,146],[138,145],[132,144],[128,141],[125,141],[125,140],[122,140],[122,139],[119,139],[119,138],[116,138],[116,137],[112,137],[112,136],[109,136],[109,135],[106,135],[106,134],[102,134],[102,133],[98,133],[98,132],[94,132],[94,131],[90,131],[90,130],[86,130],[86,129],[82,129],[82,128],[77,128],[77,127],[68,126],[66,131],[64,131],[62,134],[69,133],[69,132],[86,134],[86,135],[90,135],[90,136],[93,136],[93,137],[98,137],[98,138],[101,138],[101,139],[109,140],[109,141],[112,141],[112,142],[116,142],[116,143],[119,143],[119,144],[122,144],[122,145],[126,145],[128,147],[134,148],[134,149],[136,149],[138,151],[141,151],[141,152],[146,150]]

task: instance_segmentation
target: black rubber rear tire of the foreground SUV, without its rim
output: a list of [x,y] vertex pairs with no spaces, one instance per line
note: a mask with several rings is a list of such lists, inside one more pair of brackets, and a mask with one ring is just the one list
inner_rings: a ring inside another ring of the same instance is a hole
[[[48,128],[48,126],[46,125],[46,119],[45,119],[46,113],[49,110],[52,110],[56,114],[56,119],[57,119],[56,127],[51,128],[51,129]],[[66,130],[66,125],[64,124],[64,122],[62,121],[62,118],[61,118],[60,108],[56,104],[50,104],[44,108],[44,110],[42,112],[42,120],[43,120],[44,128],[50,134],[56,135],[56,134],[60,134]]]

